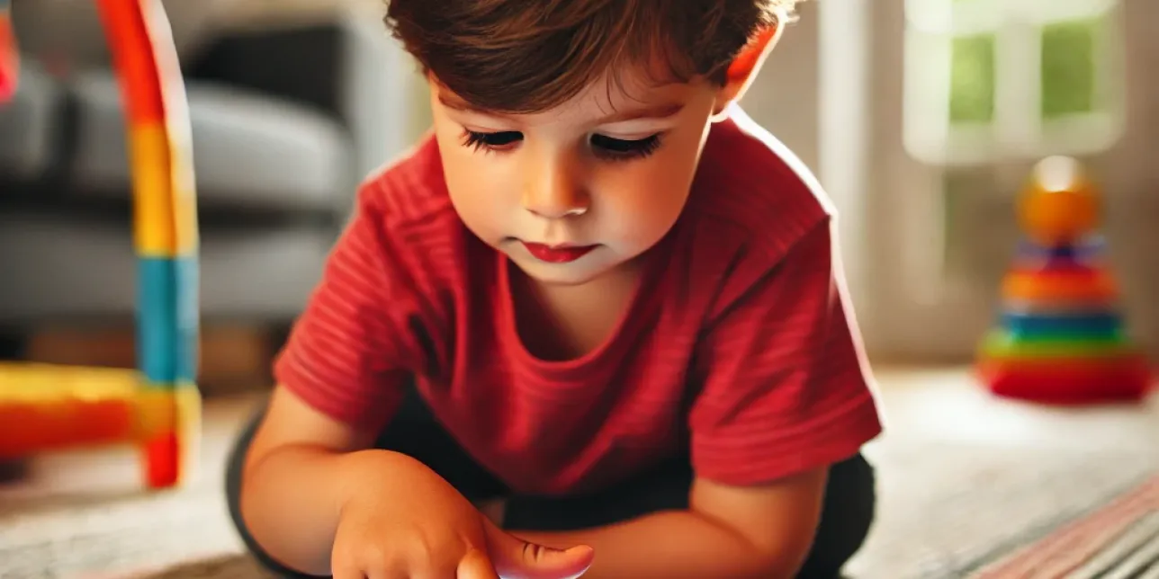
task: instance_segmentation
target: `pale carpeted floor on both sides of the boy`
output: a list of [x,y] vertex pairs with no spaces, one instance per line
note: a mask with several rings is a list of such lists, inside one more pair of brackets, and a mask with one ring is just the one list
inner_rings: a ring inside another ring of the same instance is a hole
[[[852,577],[968,576],[1159,471],[1159,396],[1058,410],[991,398],[962,369],[879,368],[877,378],[887,434],[867,455],[881,503]],[[138,492],[124,449],[45,457],[28,481],[0,486],[0,577],[124,577],[178,565],[146,576],[252,578],[213,565],[240,552],[221,503],[221,461],[254,402],[209,404],[204,469],[180,492]],[[211,563],[181,566],[190,562]]]

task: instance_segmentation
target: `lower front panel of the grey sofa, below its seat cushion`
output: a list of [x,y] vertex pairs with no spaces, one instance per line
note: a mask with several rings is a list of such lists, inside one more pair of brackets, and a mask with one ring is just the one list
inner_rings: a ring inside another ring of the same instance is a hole
[[[321,277],[336,232],[323,227],[203,230],[202,314],[289,322]],[[131,317],[137,257],[127,219],[0,212],[0,324]]]

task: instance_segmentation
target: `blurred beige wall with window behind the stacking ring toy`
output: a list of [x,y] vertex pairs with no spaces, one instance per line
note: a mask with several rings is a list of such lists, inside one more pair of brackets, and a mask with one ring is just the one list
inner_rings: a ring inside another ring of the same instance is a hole
[[748,110],[818,174],[870,352],[961,362],[993,323],[1014,204],[1047,155],[1103,192],[1131,331],[1159,354],[1159,54],[1150,0],[800,6]]

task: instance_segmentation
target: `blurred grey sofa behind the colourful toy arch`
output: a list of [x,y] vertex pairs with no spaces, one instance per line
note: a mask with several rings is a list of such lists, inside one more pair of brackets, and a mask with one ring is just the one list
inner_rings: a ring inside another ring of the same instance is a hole
[[[37,25],[14,6],[17,36]],[[89,1],[89,0],[85,0]],[[95,23],[94,23],[95,25]],[[0,334],[127,318],[136,300],[121,94],[100,61],[25,54],[0,108]],[[409,145],[413,65],[365,13],[217,31],[182,54],[203,318],[285,324],[357,183]]]

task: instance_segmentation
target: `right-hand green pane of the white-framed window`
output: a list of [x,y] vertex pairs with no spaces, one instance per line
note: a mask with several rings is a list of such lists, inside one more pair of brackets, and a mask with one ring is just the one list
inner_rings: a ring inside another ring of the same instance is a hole
[[1095,101],[1098,21],[1049,24],[1042,30],[1042,118],[1091,112]]

